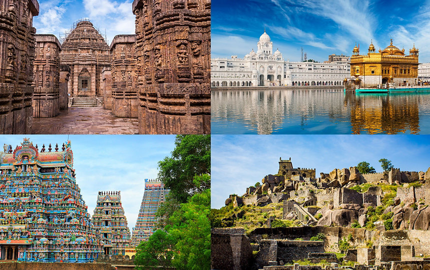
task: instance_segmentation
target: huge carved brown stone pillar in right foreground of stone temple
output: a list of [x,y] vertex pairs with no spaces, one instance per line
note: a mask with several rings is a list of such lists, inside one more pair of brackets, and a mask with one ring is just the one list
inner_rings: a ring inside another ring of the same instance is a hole
[[210,133],[210,0],[134,0],[139,133]]

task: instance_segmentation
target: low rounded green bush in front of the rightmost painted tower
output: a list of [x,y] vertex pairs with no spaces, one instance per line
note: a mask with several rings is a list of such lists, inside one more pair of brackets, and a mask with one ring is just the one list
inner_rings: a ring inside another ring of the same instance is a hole
[[158,229],[148,241],[141,241],[136,247],[136,257],[134,263],[139,270],[146,270],[151,267],[172,266],[175,238],[164,230]]

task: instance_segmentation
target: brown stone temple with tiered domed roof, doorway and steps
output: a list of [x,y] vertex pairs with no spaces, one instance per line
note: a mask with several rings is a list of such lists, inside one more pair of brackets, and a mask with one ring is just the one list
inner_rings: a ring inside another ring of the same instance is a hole
[[71,68],[71,96],[103,95],[100,85],[103,67],[110,66],[109,46],[88,20],[79,21],[62,44],[62,64]]

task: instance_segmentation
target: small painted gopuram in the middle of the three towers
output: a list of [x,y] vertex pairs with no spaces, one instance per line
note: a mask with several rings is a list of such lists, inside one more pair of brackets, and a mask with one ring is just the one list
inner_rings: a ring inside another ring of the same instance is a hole
[[105,243],[105,254],[125,255],[125,248],[130,247],[130,229],[121,204],[121,191],[99,191],[93,223]]

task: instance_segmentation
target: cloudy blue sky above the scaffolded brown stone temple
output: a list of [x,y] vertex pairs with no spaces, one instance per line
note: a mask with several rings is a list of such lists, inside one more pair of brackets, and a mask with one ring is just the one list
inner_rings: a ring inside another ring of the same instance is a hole
[[55,34],[72,27],[81,18],[90,18],[109,40],[117,34],[135,33],[133,0],[39,0],[40,13],[33,19],[37,33]]

